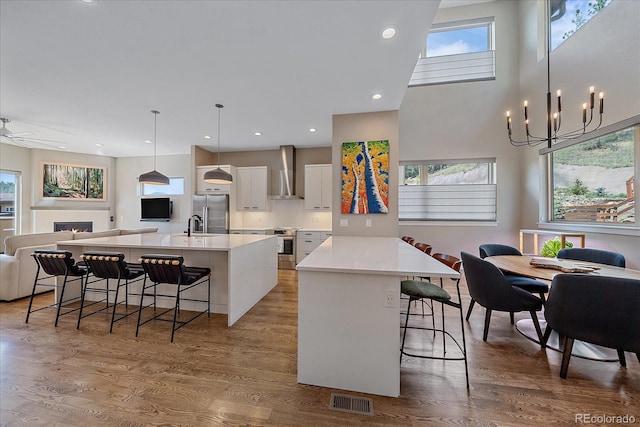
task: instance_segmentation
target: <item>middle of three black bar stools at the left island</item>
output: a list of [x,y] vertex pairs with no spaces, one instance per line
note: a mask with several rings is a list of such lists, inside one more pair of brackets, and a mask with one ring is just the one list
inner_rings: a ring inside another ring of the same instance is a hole
[[[84,261],[89,273],[84,281],[84,287],[82,290],[82,299],[80,301],[80,313],[78,314],[77,329],[80,329],[80,321],[88,316],[96,313],[111,314],[111,324],[109,326],[109,333],[113,331],[113,324],[119,320],[124,319],[136,311],[129,312],[129,284],[142,280],[144,276],[144,270],[142,265],[128,263],[124,260],[124,254],[119,252],[85,252],[80,258]],[[90,281],[90,277],[93,276],[93,280]],[[110,289],[109,279],[116,280],[115,289]],[[98,282],[106,281],[104,287],[98,287]],[[89,286],[89,285],[92,286]],[[117,312],[117,306],[119,305],[119,293],[120,288],[124,290],[124,303],[125,311]],[[91,301],[90,304],[85,305],[87,292],[104,294],[104,298],[99,301]],[[109,305],[109,295],[115,293],[113,303]],[[86,307],[91,307],[96,304],[104,303],[104,307],[94,310],[90,313],[82,314]]]

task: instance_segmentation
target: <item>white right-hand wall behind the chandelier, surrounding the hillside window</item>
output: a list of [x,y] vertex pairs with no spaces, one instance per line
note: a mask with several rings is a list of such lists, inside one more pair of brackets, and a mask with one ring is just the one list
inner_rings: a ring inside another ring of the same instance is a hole
[[[531,128],[545,134],[546,58],[541,56],[535,29],[539,4],[535,1],[520,2],[520,99],[530,100]],[[572,129],[582,122],[578,108],[587,100],[589,86],[604,91],[604,125],[616,123],[640,114],[640,2],[613,1],[587,25],[576,31],[557,47],[550,56],[551,92],[562,90],[563,126]],[[525,72],[526,70],[526,72]],[[522,105],[521,101],[517,104]],[[519,112],[519,114],[521,114]],[[540,117],[540,116],[543,117]],[[571,126],[571,125],[574,126]],[[521,203],[523,228],[544,227],[546,213],[539,194],[544,194],[544,157],[538,149],[521,149],[525,178]],[[636,149],[636,178],[639,176],[640,156]],[[637,221],[637,219],[636,219]],[[568,228],[568,227],[567,227]],[[626,234],[600,232],[591,227],[586,230],[589,247],[623,253],[627,267],[640,269],[640,238],[638,228]]]

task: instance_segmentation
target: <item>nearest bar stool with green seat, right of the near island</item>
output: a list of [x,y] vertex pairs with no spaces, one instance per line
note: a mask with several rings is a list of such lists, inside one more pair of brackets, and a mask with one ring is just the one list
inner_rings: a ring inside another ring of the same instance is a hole
[[[453,270],[460,271],[460,266],[462,262],[459,258],[456,258],[452,255],[436,253],[433,254],[433,258],[438,261],[446,264],[448,267]],[[456,283],[456,295],[457,299],[452,300],[451,295],[444,289],[444,284],[442,278],[440,278],[440,286],[435,285],[431,282],[420,281],[420,280],[403,280],[401,282],[401,292],[407,296],[409,296],[409,306],[407,307],[407,313],[404,322],[404,333],[402,335],[402,346],[400,347],[400,361],[402,362],[402,355],[410,356],[410,357],[419,357],[422,359],[437,359],[437,360],[459,360],[464,361],[464,371],[467,380],[467,388],[469,388],[469,368],[467,366],[467,344],[465,340],[464,334],[464,320],[462,313],[462,298],[460,296],[460,279],[454,279]],[[409,326],[409,309],[411,307],[412,301],[429,299],[432,302],[439,302],[442,304],[442,328],[436,329],[435,327],[422,327],[422,326]],[[462,344],[458,342],[456,338],[454,338],[446,329],[444,323],[444,307],[450,306],[454,307],[458,310],[460,314],[460,329],[462,331]],[[404,344],[407,337],[407,329],[420,329],[420,330],[428,330],[435,332],[442,332],[442,341],[443,341],[443,352],[442,356],[427,356],[421,354],[411,354],[404,350]],[[462,356],[446,356],[447,353],[447,345],[446,345],[446,336],[451,338],[451,340],[458,346]]]

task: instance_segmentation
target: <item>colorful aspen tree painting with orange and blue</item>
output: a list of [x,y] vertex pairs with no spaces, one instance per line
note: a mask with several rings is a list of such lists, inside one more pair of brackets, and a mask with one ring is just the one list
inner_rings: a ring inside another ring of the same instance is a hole
[[341,212],[389,212],[389,141],[342,143]]

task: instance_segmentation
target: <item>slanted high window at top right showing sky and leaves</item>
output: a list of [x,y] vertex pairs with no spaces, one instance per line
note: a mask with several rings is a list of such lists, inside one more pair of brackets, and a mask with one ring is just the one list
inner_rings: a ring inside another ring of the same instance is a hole
[[559,0],[551,2],[551,50],[571,37],[611,0]]

